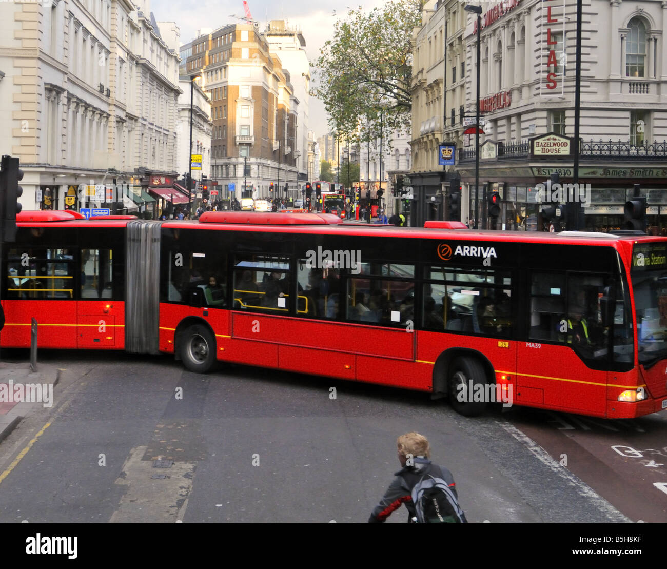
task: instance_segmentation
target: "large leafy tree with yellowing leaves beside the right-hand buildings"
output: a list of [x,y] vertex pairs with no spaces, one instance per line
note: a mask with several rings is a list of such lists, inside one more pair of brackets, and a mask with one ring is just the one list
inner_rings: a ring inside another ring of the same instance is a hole
[[[390,0],[366,14],[350,9],[313,64],[331,130],[357,140],[408,131],[412,119],[412,31],[424,0]],[[382,129],[380,122],[382,121]]]

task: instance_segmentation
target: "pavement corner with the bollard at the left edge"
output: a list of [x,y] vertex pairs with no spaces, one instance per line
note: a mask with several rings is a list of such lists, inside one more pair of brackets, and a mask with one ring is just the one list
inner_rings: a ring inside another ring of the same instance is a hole
[[37,363],[0,362],[0,442],[29,414],[53,406],[61,370]]

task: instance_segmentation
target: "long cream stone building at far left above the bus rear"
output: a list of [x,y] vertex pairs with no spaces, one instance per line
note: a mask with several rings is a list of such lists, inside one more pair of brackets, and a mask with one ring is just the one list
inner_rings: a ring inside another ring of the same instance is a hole
[[127,0],[0,3],[2,151],[21,160],[25,209],[99,205],[100,187],[171,173],[177,55],[145,13]]

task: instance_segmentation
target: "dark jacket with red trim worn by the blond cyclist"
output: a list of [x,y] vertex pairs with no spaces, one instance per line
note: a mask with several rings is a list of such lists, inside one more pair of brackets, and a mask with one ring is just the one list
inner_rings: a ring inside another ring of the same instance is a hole
[[416,516],[417,511],[412,503],[412,488],[414,488],[424,474],[431,474],[432,476],[442,478],[452,488],[452,492],[454,492],[454,496],[458,500],[454,476],[452,476],[449,470],[444,468],[444,466],[433,464],[428,458],[424,458],[423,456],[416,456],[413,460],[414,466],[405,466],[394,474],[396,478],[392,480],[389,488],[387,488],[384,496],[382,496],[380,504],[374,508],[373,513],[368,518],[369,523],[386,521],[392,512],[401,507],[401,504],[405,504],[406,508],[408,508],[408,513],[410,514],[408,520]]

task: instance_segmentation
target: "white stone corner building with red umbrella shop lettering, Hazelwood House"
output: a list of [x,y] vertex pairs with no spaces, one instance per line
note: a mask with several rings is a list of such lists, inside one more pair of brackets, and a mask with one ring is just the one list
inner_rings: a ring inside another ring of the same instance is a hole
[[[574,136],[576,4],[548,13],[538,0],[512,0],[489,8],[481,29],[480,191],[500,191],[498,227],[542,229],[537,183],[550,174],[572,182],[568,155],[540,156],[530,144],[546,133]],[[590,183],[586,227],[618,228],[635,183],[648,197],[648,219],[662,225],[667,204],[667,4],[649,0],[584,2],[580,103],[579,183]],[[474,18],[467,14],[466,65],[476,69]],[[474,113],[476,73],[466,78],[468,114]],[[570,141],[572,143],[573,141]],[[474,184],[474,137],[462,141],[458,170]],[[572,149],[576,148],[574,143]],[[464,198],[465,199],[465,198]],[[472,200],[471,200],[472,203]],[[480,195],[480,225],[484,203]]]

